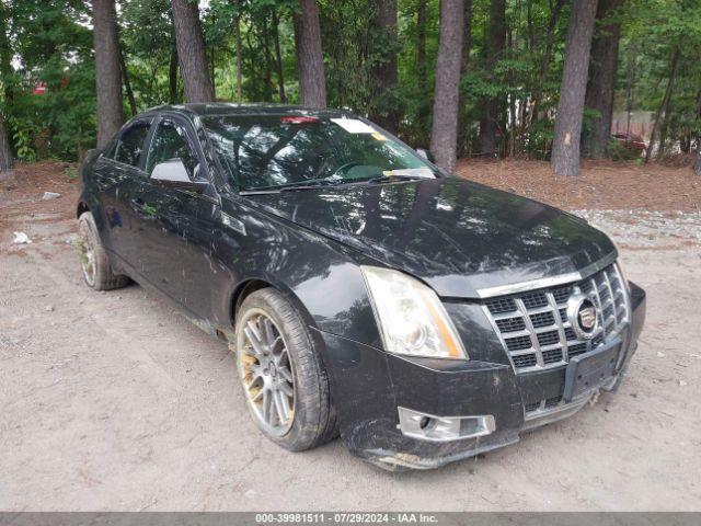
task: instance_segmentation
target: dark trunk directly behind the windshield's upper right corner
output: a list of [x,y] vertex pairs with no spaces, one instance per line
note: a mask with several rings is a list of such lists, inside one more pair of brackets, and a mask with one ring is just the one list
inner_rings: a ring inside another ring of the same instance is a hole
[[369,115],[377,124],[397,134],[400,112],[392,93],[397,88],[397,0],[372,0],[371,5],[376,31],[372,54],[379,57],[379,62],[371,71]]

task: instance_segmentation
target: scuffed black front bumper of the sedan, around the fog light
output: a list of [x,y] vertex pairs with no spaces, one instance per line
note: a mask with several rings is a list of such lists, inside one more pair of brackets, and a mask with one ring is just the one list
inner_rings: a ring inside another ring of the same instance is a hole
[[[528,416],[527,400],[562,398],[565,367],[516,375],[506,359],[409,358],[324,332],[317,338],[326,351],[341,437],[348,450],[389,470],[429,469],[514,444],[526,430],[574,414],[599,388],[614,390],[635,352],[644,318],[645,293],[631,284],[631,322],[620,335],[618,368],[596,389]],[[439,416],[492,415],[495,428],[451,442],[417,439],[399,428],[398,407]]]

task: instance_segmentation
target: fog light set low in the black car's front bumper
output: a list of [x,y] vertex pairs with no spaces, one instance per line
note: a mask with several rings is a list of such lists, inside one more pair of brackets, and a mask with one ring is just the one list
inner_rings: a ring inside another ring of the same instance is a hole
[[399,428],[404,436],[432,442],[461,441],[489,435],[496,428],[494,416],[436,416],[397,408]]

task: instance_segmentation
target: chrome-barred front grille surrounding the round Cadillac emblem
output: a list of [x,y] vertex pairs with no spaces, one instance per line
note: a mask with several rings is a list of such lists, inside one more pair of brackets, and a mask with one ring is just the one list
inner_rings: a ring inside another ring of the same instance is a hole
[[[567,320],[567,300],[577,293],[594,293],[599,329],[590,340],[578,340]],[[595,350],[620,332],[630,316],[616,264],[576,283],[486,299],[484,310],[517,373],[559,367]]]

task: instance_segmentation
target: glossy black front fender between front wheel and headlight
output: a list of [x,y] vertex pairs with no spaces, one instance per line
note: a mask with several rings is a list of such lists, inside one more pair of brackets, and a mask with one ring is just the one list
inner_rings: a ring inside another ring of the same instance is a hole
[[219,222],[214,264],[230,270],[231,283],[212,298],[218,323],[230,324],[231,299],[241,284],[261,279],[288,294],[310,325],[381,347],[359,254],[243,198],[223,199],[222,213],[229,226]]

